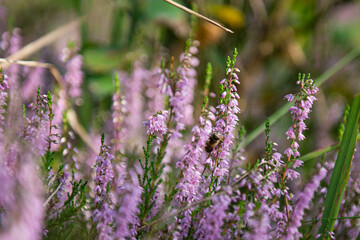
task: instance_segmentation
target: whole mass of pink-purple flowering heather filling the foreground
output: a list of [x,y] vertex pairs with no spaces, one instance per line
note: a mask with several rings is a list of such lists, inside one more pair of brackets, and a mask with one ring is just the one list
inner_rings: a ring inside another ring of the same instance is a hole
[[[14,29],[3,35],[1,46],[14,52],[20,43]],[[299,74],[299,92],[285,96],[292,123],[283,137],[289,143],[271,141],[267,120],[263,157],[250,164],[239,121],[238,52],[226,61],[216,106],[208,100],[208,65],[204,101],[194,113],[198,46],[189,41],[177,67],[170,61],[145,69],[136,62],[132,73],[116,72],[111,121],[100,141],[100,133],[87,138],[74,120],[84,81],[75,48],[61,58],[66,65],[61,86],[47,94],[39,86],[31,104],[23,105],[33,87],[19,81],[20,66],[1,71],[0,239],[358,236],[356,218],[339,219],[334,231],[318,234],[331,159],[318,163],[301,186],[300,143],[310,129],[306,121],[319,91],[316,83]],[[33,71],[30,80],[41,78]],[[19,90],[26,94],[16,94]],[[340,207],[344,216],[359,214],[358,174],[352,169]]]

